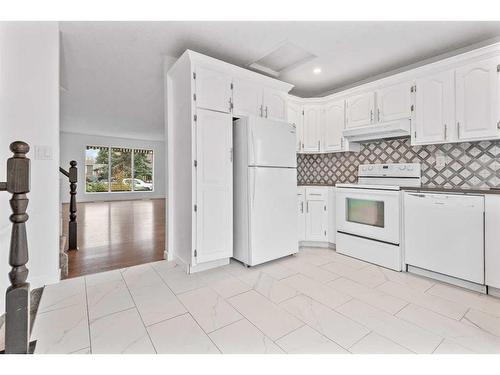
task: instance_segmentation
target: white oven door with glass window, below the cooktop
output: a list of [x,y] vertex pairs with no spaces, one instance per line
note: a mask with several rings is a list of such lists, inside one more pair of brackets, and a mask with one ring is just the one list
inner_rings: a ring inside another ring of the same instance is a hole
[[400,192],[337,188],[337,231],[399,245]]

